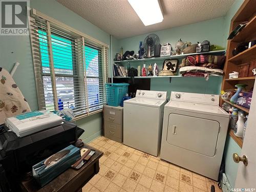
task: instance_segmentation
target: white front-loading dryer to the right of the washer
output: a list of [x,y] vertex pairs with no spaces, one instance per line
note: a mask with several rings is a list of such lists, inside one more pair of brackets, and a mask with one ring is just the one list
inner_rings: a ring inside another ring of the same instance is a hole
[[172,92],[164,106],[160,158],[217,181],[228,122],[219,95]]

